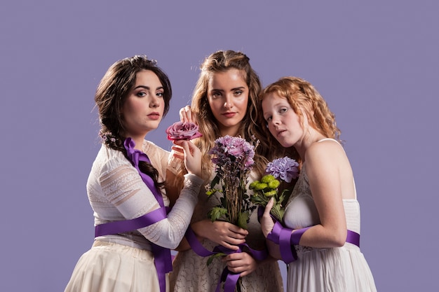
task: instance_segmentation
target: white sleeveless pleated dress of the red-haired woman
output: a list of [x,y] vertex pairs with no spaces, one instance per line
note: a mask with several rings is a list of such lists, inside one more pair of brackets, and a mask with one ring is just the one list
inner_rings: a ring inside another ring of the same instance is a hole
[[[305,169],[304,162],[285,207],[284,223],[291,229],[320,223]],[[343,200],[343,205],[348,230],[360,234],[358,200]],[[342,247],[317,249],[297,245],[295,249],[298,259],[288,265],[288,292],[377,291],[372,272],[358,246],[346,243]]]

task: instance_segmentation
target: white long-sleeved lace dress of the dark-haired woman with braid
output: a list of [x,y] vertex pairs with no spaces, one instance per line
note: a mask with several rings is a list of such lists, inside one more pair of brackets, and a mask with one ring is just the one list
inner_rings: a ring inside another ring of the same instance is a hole
[[[168,151],[149,141],[144,141],[142,150],[158,170],[158,180],[163,181]],[[65,292],[159,291],[151,242],[168,249],[180,244],[202,183],[198,176],[185,176],[184,189],[168,218],[131,232],[96,237],[92,248],[76,264]],[[95,225],[137,218],[160,207],[123,153],[104,145],[88,176],[87,193]],[[162,197],[168,206],[168,197]],[[166,286],[168,291],[168,283]]]

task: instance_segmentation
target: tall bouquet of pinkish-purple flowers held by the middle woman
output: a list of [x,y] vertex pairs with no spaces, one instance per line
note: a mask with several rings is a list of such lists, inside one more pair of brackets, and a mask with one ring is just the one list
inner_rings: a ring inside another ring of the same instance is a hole
[[215,140],[210,150],[215,164],[215,178],[206,186],[209,197],[219,195],[219,205],[209,211],[210,220],[224,220],[247,229],[251,212],[256,208],[247,194],[248,174],[255,164],[255,148],[259,141],[252,143],[241,137],[229,135]]

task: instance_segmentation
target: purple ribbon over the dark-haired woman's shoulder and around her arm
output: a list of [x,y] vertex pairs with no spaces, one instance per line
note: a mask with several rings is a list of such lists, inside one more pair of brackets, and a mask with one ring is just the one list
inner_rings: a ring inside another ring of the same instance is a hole
[[[149,190],[154,194],[158,204],[161,208],[155,209],[154,211],[144,214],[143,216],[123,221],[114,221],[95,226],[95,237],[102,235],[117,234],[122,232],[128,232],[132,230],[137,230],[139,228],[147,227],[158,221],[163,220],[167,217],[169,208],[165,207],[163,203],[163,197],[161,192],[156,188],[154,181],[150,176],[144,174],[139,169],[139,161],[144,161],[151,164],[148,156],[142,151],[135,149],[135,143],[131,138],[127,138],[123,146],[126,148],[127,156],[137,172],[139,172],[142,177],[142,181],[147,185]],[[156,266],[158,275],[158,284],[160,284],[160,291],[166,291],[166,273],[173,270],[173,263],[170,254],[170,249],[166,249],[163,246],[158,246],[151,242],[151,251],[154,254],[154,265]]]

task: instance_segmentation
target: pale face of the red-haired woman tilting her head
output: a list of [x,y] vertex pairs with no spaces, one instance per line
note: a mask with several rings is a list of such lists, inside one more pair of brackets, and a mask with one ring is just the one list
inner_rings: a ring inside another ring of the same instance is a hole
[[276,92],[262,100],[262,113],[270,133],[284,147],[295,146],[304,139],[304,127],[288,100]]

